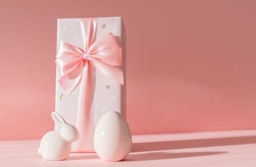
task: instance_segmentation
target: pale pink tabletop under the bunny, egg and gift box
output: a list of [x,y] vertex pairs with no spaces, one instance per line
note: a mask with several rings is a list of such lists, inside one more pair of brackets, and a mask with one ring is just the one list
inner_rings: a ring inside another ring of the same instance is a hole
[[43,160],[39,142],[0,141],[0,167],[256,167],[256,130],[133,136],[132,151],[121,162],[94,153]]

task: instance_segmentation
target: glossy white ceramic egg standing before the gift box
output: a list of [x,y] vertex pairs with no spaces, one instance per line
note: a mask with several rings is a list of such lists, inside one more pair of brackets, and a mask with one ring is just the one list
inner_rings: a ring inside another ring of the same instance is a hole
[[94,132],[94,148],[106,161],[124,160],[131,151],[131,133],[125,118],[116,111],[103,115]]

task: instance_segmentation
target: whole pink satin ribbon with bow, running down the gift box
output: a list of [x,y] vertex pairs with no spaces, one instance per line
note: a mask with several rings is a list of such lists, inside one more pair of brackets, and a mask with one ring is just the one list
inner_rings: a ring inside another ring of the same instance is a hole
[[93,93],[91,70],[96,70],[123,84],[122,48],[112,33],[107,33],[95,41],[96,18],[80,19],[84,48],[61,41],[56,54],[56,66],[61,75],[59,84],[64,93],[69,95],[81,84],[77,109],[76,127],[80,138],[76,151],[93,150]]

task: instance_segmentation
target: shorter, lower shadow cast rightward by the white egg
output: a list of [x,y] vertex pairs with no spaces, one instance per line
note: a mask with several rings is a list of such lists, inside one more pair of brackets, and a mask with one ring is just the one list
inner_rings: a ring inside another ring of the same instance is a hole
[[129,155],[125,161],[148,161],[159,159],[172,159],[172,158],[184,158],[184,157],[200,157],[210,156],[216,154],[225,154],[227,151],[205,151],[205,152],[184,152],[184,153],[171,153],[171,152],[151,152],[144,154],[132,154]]

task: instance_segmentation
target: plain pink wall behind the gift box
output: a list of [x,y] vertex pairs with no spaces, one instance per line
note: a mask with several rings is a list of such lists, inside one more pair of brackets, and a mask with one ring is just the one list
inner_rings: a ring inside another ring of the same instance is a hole
[[53,129],[57,18],[121,16],[133,134],[256,128],[255,0],[0,2],[0,140]]

